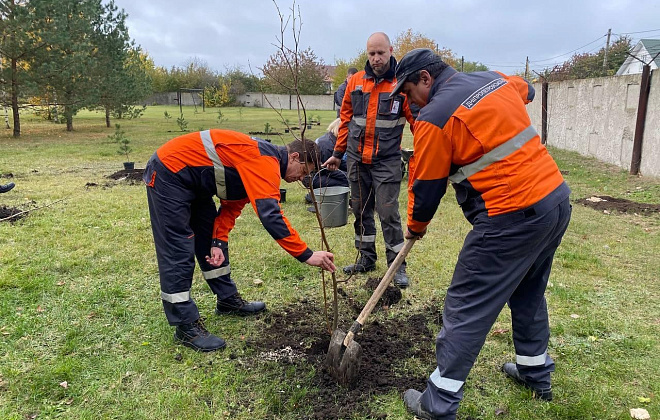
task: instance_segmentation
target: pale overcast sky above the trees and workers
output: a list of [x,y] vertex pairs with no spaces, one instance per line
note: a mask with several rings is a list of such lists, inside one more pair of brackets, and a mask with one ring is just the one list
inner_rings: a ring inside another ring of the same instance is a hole
[[[255,72],[276,51],[280,22],[271,0],[115,0],[128,13],[131,38],[157,66],[185,66],[197,58],[216,71]],[[283,14],[292,2],[278,0]],[[576,52],[596,52],[628,34],[660,38],[660,0],[298,0],[300,46],[325,64],[350,60],[377,31],[392,40],[408,28],[466,61],[513,73],[542,70]],[[290,31],[287,31],[290,36]],[[285,39],[288,45],[292,41]],[[400,58],[400,57],[397,57]]]

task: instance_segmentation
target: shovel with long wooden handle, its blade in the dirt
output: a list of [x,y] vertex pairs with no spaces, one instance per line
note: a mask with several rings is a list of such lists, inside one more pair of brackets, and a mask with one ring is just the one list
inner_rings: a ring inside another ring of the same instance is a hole
[[[360,312],[360,315],[351,325],[351,329],[348,330],[348,334],[341,331],[339,328],[332,333],[332,338],[330,339],[330,347],[328,347],[328,354],[325,357],[325,363],[328,366],[330,374],[342,385],[351,384],[357,375],[360,373],[360,362],[362,357],[362,347],[358,342],[353,341],[355,335],[360,332],[364,321],[371,314],[376,303],[380,300],[387,289],[387,286],[392,281],[394,273],[397,272],[403,260],[406,259],[410,248],[412,248],[415,239],[407,240],[399,254],[396,256],[390,268],[387,269],[387,272],[378,283],[378,287],[374,290],[373,295],[369,298],[369,301]],[[343,350],[343,351],[342,351]],[[342,355],[343,353],[343,355]]]

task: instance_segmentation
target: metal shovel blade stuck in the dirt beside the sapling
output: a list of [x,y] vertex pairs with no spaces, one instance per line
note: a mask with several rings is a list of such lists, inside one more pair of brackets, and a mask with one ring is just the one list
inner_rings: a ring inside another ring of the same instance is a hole
[[330,339],[330,347],[325,362],[330,374],[341,385],[350,385],[355,382],[360,372],[362,347],[355,340],[348,347],[344,346],[346,333],[336,329]]

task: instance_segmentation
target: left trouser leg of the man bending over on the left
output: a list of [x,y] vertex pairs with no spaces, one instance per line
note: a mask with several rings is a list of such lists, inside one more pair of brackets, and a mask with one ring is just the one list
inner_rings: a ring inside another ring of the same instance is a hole
[[157,158],[152,157],[149,167],[158,173],[153,186],[147,187],[147,199],[163,309],[170,325],[186,324],[199,319],[197,306],[189,295],[195,270],[194,234],[182,222],[190,220],[194,194]]

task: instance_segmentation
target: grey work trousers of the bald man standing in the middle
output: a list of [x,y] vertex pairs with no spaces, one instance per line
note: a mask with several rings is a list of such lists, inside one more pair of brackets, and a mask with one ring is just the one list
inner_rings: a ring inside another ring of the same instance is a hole
[[369,261],[377,260],[375,210],[380,218],[389,265],[403,248],[399,216],[401,159],[365,164],[349,157],[347,169],[351,208],[355,216],[355,248]]

